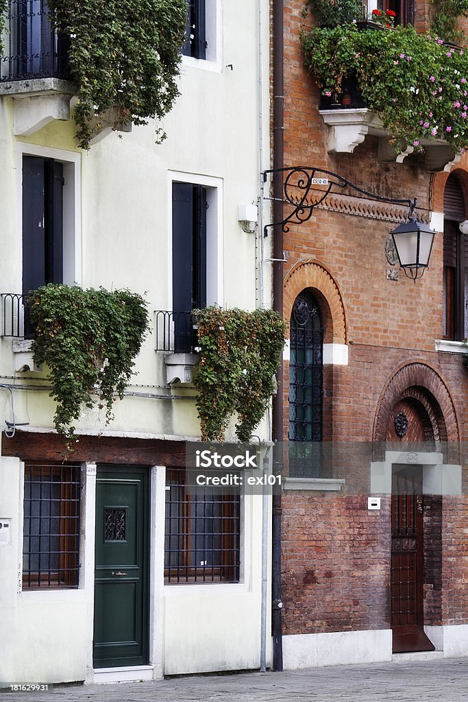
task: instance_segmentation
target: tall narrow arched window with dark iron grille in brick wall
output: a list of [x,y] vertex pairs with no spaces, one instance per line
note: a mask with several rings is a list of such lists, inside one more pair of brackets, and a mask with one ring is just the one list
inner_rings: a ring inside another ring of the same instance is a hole
[[305,290],[295,299],[290,319],[289,440],[297,442],[290,444],[290,475],[319,475],[320,447],[312,442],[322,438],[323,327],[316,298]]

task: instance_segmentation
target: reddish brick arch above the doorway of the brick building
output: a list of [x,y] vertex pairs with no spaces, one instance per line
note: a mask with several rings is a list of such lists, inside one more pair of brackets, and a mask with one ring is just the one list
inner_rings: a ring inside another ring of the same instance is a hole
[[417,399],[424,406],[432,424],[435,441],[460,441],[455,404],[446,383],[432,366],[413,362],[400,366],[385,383],[375,411],[374,442],[385,442],[394,406],[407,397]]

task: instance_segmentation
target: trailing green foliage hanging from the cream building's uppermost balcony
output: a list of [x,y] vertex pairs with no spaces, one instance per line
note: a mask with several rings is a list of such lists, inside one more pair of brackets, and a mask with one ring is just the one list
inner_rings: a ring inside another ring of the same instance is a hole
[[116,107],[116,124],[147,124],[171,110],[179,95],[187,0],[48,0],[48,7],[58,30],[71,37],[82,148],[93,137],[95,117],[106,110]]

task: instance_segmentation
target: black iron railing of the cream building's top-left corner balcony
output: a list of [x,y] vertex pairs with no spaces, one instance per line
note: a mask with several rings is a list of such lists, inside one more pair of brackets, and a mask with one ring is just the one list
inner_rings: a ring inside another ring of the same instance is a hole
[[0,81],[69,79],[69,37],[55,32],[46,0],[8,0]]

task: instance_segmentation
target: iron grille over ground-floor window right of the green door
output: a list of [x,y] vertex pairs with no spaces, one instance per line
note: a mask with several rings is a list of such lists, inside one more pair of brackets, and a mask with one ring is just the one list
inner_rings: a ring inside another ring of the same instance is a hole
[[241,501],[213,487],[187,491],[184,469],[166,472],[166,583],[238,583]]

